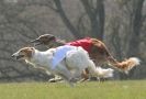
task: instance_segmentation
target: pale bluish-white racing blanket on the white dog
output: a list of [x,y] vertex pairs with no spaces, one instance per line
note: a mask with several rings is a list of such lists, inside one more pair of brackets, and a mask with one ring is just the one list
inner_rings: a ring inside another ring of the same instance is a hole
[[67,52],[75,50],[75,46],[64,45],[56,48],[53,57],[53,68],[55,68],[65,57]]

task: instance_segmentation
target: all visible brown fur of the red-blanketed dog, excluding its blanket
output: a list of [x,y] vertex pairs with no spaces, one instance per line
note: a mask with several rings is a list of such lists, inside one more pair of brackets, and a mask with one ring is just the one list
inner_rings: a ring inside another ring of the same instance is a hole
[[[47,47],[56,47],[56,46],[60,46],[64,45],[65,43],[57,41],[57,38],[54,38],[54,35],[52,34],[45,34],[45,35],[41,35],[38,38],[38,42],[41,44],[46,45]],[[126,59],[123,62],[117,62],[108,51],[105,44],[97,38],[91,38],[92,41],[92,47],[91,51],[89,52],[89,56],[91,57],[91,59],[93,59],[93,62],[96,63],[97,66],[101,66],[104,63],[108,63],[110,65],[112,65],[113,67],[123,70],[123,72],[127,72],[130,69],[132,69],[134,66],[138,65],[135,63],[135,61],[133,59]],[[33,42],[35,43],[35,42]],[[86,72],[83,72],[86,75]],[[87,76],[85,76],[87,78]]]

